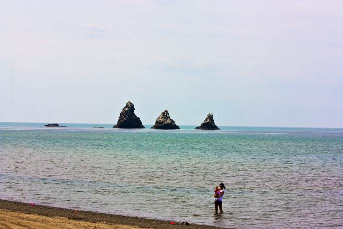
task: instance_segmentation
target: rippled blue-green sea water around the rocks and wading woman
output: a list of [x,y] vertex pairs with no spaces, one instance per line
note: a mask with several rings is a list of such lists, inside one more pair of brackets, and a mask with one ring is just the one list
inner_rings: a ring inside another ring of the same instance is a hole
[[343,129],[43,125],[0,123],[1,199],[219,227],[343,228]]

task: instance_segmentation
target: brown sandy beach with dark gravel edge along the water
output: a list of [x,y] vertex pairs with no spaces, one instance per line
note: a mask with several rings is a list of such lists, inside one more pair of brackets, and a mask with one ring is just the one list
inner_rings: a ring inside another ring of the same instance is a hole
[[174,228],[214,229],[207,225],[182,225],[180,222],[162,221],[139,217],[112,215],[77,209],[57,208],[44,205],[30,205],[0,200],[0,228]]

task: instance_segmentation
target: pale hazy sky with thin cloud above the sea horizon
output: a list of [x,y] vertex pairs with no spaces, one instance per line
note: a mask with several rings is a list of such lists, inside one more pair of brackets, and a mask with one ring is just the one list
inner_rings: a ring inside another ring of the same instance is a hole
[[343,128],[342,9],[0,0],[0,122]]

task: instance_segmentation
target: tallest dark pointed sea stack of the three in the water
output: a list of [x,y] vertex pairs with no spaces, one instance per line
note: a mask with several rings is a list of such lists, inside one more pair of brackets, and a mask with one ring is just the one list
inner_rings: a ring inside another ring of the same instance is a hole
[[120,113],[117,124],[113,128],[145,128],[142,121],[140,121],[139,117],[133,111],[134,105],[128,101]]

